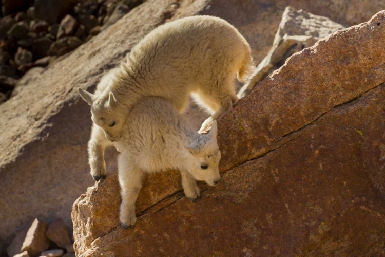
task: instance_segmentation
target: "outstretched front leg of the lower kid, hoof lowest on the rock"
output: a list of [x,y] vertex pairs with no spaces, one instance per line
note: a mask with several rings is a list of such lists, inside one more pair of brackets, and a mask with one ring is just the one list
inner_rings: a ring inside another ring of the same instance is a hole
[[137,222],[135,202],[142,188],[143,173],[130,163],[126,155],[118,156],[119,183],[122,189],[122,204],[120,206],[120,224],[125,230],[133,228]]

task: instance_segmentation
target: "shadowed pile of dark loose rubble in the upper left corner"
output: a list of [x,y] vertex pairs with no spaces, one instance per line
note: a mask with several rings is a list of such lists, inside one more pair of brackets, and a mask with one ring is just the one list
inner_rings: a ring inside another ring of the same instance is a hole
[[[3,0],[0,76],[17,81],[34,67],[47,67],[141,3],[143,0]],[[14,95],[16,86],[3,81],[0,103]]]

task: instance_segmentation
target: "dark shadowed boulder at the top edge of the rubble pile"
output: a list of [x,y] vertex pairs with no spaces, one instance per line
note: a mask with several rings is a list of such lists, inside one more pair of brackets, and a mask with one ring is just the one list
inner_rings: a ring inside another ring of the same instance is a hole
[[59,22],[71,8],[70,0],[51,1],[35,0],[34,16],[36,19],[47,21],[50,24]]

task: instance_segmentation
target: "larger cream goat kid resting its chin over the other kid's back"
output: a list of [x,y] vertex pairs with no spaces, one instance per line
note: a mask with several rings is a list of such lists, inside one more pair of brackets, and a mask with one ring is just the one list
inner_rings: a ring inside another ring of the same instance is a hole
[[94,95],[79,88],[94,123],[88,144],[93,178],[105,175],[104,148],[120,140],[130,109],[142,97],[162,97],[182,112],[194,94],[211,113],[203,132],[237,102],[235,78],[245,82],[254,68],[246,40],[218,17],[191,16],[152,30],[101,80]]

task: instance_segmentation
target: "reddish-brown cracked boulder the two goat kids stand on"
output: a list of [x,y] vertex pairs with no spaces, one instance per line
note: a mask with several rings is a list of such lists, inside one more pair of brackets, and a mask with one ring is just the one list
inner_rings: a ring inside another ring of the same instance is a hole
[[76,255],[383,256],[384,43],[382,11],[242,98],[219,119],[223,178],[196,204],[177,173],[153,174],[125,231],[109,173],[73,206]]

